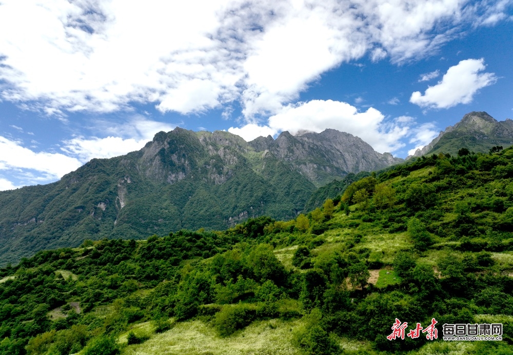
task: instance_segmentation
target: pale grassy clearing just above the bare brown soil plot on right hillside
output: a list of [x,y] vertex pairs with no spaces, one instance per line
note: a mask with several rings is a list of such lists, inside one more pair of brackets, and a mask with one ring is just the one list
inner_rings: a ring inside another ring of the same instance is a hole
[[368,248],[371,252],[383,252],[382,262],[385,264],[391,264],[398,251],[411,247],[411,242],[406,233],[369,234],[365,235],[358,244],[358,249]]

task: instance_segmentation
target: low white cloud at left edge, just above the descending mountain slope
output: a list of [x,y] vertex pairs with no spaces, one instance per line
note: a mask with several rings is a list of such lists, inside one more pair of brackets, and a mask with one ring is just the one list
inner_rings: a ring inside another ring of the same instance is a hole
[[0,152],[0,170],[33,169],[51,179],[58,179],[82,165],[76,158],[61,153],[34,152],[3,136],[0,136]]

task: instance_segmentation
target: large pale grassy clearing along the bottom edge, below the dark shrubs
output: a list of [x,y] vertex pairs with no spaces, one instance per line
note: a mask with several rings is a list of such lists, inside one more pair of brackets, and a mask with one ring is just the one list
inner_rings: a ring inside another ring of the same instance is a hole
[[293,329],[301,320],[273,319],[254,322],[233,336],[221,338],[213,327],[201,321],[176,323],[172,329],[156,334],[139,345],[122,350],[127,355],[150,354],[300,354],[291,343]]

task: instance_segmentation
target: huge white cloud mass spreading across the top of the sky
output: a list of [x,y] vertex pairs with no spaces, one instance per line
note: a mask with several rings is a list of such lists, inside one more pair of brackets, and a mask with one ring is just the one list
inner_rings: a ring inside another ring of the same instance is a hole
[[0,97],[62,120],[132,103],[187,114],[239,101],[249,122],[341,63],[432,55],[476,16],[504,19],[508,4],[3,0]]

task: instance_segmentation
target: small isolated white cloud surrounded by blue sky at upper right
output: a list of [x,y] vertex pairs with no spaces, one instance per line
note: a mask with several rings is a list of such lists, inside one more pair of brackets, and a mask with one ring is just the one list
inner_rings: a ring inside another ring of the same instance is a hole
[[429,86],[424,95],[420,91],[413,92],[410,102],[428,108],[468,104],[479,89],[497,81],[494,73],[482,73],[485,68],[483,58],[461,61],[450,67],[437,85]]

